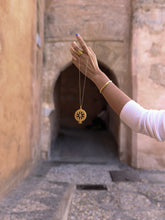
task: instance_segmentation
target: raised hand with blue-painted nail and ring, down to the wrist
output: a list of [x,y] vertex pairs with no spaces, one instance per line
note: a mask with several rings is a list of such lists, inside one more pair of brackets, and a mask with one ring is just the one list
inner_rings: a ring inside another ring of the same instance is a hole
[[[100,73],[97,58],[93,50],[86,45],[79,34],[76,34],[78,44],[74,41],[70,52],[72,54],[73,64],[92,81]],[[82,54],[78,54],[78,50],[82,50]]]

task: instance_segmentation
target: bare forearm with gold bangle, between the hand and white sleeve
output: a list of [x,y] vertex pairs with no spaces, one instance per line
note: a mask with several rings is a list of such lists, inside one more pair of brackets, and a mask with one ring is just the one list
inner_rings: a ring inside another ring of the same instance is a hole
[[[101,71],[98,70],[97,74],[91,79],[97,88],[100,90],[109,78]],[[113,82],[110,82],[103,90],[102,95],[111,106],[111,108],[120,115],[123,106],[131,99],[123,93]]]

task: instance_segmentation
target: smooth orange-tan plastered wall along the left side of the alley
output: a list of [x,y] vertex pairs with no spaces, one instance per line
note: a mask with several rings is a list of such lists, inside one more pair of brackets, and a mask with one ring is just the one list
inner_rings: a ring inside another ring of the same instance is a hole
[[[40,4],[42,12],[43,1]],[[1,0],[0,15],[0,193],[4,193],[40,158],[42,55],[36,46],[35,0]]]

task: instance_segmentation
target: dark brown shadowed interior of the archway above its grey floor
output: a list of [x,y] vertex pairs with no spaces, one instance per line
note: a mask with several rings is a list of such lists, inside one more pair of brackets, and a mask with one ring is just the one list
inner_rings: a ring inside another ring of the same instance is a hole
[[[100,69],[118,86],[113,71],[99,62]],[[81,74],[83,87],[84,75]],[[119,118],[108,106],[92,81],[86,79],[83,108],[87,119],[79,125],[74,113],[79,109],[79,74],[77,68],[70,64],[61,73],[54,88],[55,110],[50,115],[51,140],[54,140],[61,128],[83,128],[93,130],[106,129],[112,133],[118,143]]]

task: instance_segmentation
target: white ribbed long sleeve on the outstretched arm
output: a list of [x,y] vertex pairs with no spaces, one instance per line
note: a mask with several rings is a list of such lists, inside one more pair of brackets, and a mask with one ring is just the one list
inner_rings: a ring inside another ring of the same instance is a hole
[[124,105],[120,119],[138,133],[165,141],[165,110],[147,110],[131,100]]

